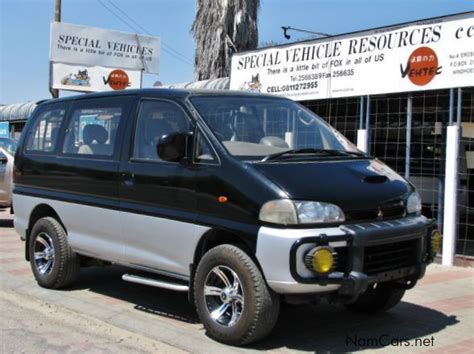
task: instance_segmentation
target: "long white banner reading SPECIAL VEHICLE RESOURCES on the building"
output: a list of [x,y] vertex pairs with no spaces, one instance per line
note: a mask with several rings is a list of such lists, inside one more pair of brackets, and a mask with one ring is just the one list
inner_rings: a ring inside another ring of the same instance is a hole
[[231,90],[295,100],[474,86],[474,12],[236,53]]

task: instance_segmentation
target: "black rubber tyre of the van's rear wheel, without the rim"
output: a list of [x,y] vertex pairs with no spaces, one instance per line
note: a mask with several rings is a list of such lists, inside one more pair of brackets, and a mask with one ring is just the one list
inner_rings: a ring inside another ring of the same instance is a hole
[[[40,233],[46,233],[54,245],[54,263],[48,274],[41,274],[37,269],[34,257],[34,245]],[[67,234],[62,225],[52,217],[39,219],[31,230],[28,252],[30,264],[37,283],[48,289],[60,289],[71,285],[77,278],[80,269],[79,256],[71,250]]]

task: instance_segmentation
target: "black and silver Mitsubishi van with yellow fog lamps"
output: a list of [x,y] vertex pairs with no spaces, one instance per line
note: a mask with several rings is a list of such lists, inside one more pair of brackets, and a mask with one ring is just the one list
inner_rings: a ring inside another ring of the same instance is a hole
[[387,310],[440,246],[413,185],[268,95],[143,89],[43,102],[14,183],[40,286],[119,264],[124,281],[187,292],[208,335],[232,345],[267,335],[282,302]]

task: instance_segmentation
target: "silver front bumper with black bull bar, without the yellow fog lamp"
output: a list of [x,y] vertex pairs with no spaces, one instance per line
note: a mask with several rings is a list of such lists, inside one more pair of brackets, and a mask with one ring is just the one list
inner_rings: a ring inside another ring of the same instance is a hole
[[[408,288],[432,262],[429,240],[434,227],[423,216],[316,229],[262,227],[257,259],[268,285],[280,294],[338,291],[354,296],[371,283],[386,281]],[[303,263],[306,252],[320,245],[334,248],[339,258],[335,270],[325,276],[315,275]],[[387,257],[392,264],[385,264],[384,252],[395,257]]]

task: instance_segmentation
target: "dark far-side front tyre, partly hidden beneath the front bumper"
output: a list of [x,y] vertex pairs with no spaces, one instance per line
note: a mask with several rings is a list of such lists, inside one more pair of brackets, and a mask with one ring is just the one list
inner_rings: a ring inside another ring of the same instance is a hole
[[364,313],[378,313],[390,310],[396,306],[405,294],[404,289],[390,286],[389,284],[378,284],[359,295],[359,298],[346,307]]

